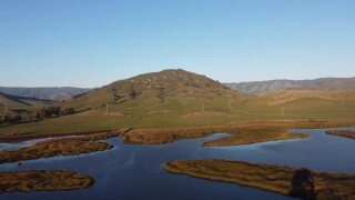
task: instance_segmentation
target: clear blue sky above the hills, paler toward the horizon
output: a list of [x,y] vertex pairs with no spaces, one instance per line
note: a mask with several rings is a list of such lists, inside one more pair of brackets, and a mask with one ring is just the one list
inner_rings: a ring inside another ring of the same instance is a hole
[[354,0],[0,0],[0,86],[355,77]]

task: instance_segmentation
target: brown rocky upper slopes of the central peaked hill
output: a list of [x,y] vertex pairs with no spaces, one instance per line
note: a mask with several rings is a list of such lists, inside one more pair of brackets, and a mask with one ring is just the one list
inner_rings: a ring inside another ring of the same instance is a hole
[[[176,100],[189,102],[212,102],[215,99],[248,97],[227,89],[222,83],[204,76],[184,70],[164,70],[121,80],[97,89],[92,92],[74,97],[62,102],[65,107],[75,109],[98,109],[109,104],[152,104],[162,106]],[[181,101],[182,102],[182,101]],[[126,108],[126,107],[124,107]],[[152,109],[152,107],[149,107]]]

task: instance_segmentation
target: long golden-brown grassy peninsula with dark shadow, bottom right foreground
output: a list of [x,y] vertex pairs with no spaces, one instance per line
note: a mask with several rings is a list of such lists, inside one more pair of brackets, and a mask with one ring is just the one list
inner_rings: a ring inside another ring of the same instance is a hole
[[163,163],[173,173],[234,182],[303,199],[353,199],[355,176],[217,159]]

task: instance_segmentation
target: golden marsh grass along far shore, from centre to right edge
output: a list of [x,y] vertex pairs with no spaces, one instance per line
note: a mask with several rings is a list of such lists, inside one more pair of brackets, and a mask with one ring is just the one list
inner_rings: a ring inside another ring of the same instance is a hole
[[207,141],[202,146],[236,146],[308,137],[303,133],[288,133],[288,129],[320,129],[354,124],[355,122],[346,121],[252,121],[225,126],[133,129],[122,133],[121,138],[123,142],[131,144],[162,144],[182,138],[231,133],[231,137]]

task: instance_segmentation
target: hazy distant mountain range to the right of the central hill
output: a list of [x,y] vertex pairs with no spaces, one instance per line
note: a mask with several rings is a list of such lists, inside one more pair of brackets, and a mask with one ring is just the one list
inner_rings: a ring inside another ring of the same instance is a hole
[[314,80],[268,80],[224,83],[226,87],[244,93],[260,94],[284,89],[301,90],[343,90],[355,89],[355,78],[321,78]]

